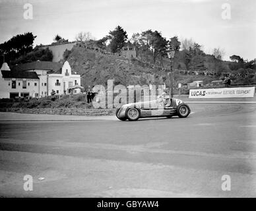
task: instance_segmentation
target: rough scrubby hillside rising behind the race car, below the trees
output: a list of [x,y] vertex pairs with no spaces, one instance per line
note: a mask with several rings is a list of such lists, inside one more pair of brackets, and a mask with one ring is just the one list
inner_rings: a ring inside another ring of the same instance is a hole
[[[229,65],[231,62],[220,61],[214,59],[211,55],[201,55],[193,57],[189,63],[189,69],[198,70],[199,75],[195,72],[192,74],[184,73],[186,65],[182,61],[183,51],[176,55],[176,62],[174,63],[174,86],[177,84],[187,84],[194,80],[203,80],[204,84],[210,83],[212,80],[220,80],[224,74],[233,73],[233,83],[248,83],[256,82],[255,72],[253,69],[239,69],[238,71],[231,71]],[[73,71],[79,73],[81,84],[84,88],[96,84],[106,86],[108,79],[114,79],[114,84],[169,84],[167,72],[170,71],[170,60],[163,59],[162,68],[157,65],[152,65],[149,61],[141,61],[140,59],[128,60],[125,57],[115,53],[102,53],[96,50],[87,49],[78,45],[74,46],[69,53],[65,56]],[[231,63],[232,65],[239,65],[239,63]],[[159,64],[158,64],[159,65]],[[214,69],[216,71],[212,72]],[[240,71],[241,70],[241,71]],[[249,71],[247,71],[249,70]],[[214,73],[205,75],[204,71]],[[193,71],[192,71],[193,72]],[[251,73],[249,73],[251,72]],[[203,73],[203,74],[202,74]]]

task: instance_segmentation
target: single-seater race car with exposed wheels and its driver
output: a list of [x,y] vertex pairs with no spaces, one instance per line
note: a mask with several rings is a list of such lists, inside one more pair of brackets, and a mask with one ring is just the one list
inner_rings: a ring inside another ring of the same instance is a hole
[[185,118],[191,112],[190,107],[182,100],[170,98],[164,92],[156,100],[124,104],[117,108],[115,115],[121,121],[136,121],[143,117],[168,117],[178,116]]

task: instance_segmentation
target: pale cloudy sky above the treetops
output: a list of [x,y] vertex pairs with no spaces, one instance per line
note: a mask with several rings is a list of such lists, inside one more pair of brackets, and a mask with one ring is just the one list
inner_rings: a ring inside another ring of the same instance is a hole
[[[33,19],[23,18],[25,3]],[[222,19],[222,4],[231,6],[231,19]],[[100,39],[115,26],[131,38],[134,32],[159,30],[166,38],[192,38],[209,53],[225,50],[224,59],[256,58],[255,0],[0,0],[0,43],[16,34],[33,32],[36,44],[51,44],[55,34],[69,41],[79,32]]]

